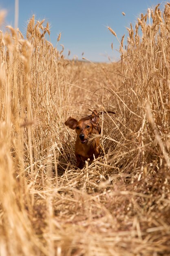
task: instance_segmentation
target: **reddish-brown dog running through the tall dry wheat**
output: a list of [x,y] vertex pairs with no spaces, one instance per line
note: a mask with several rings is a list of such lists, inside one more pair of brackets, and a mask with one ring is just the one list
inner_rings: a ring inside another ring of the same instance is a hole
[[99,156],[100,144],[99,137],[94,137],[93,140],[88,140],[93,134],[100,134],[101,128],[98,124],[99,115],[97,111],[94,110],[92,115],[88,117],[83,117],[79,121],[73,117],[69,117],[65,122],[65,125],[71,129],[75,129],[77,133],[77,139],[75,141],[75,157],[77,159],[77,167],[81,168],[83,161],[88,158],[93,160],[95,157]]

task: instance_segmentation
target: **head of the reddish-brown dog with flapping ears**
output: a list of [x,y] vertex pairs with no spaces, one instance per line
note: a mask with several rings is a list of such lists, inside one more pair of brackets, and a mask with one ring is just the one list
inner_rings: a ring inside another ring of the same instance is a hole
[[83,117],[77,121],[73,117],[69,117],[65,121],[65,125],[71,129],[75,129],[77,136],[82,143],[85,143],[90,135],[93,133],[93,128],[95,128],[95,133],[100,134],[100,126],[98,125],[99,115],[96,110],[93,110],[92,114],[88,117]]

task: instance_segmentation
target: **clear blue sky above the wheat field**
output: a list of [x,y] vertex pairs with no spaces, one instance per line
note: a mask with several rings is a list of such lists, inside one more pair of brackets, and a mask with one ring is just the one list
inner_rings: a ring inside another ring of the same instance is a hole
[[[135,24],[140,13],[146,13],[149,7],[155,7],[159,0],[19,0],[18,27],[26,33],[26,24],[35,14],[36,20],[46,18],[51,24],[50,40],[56,45],[57,35],[61,40],[57,45],[70,58],[84,57],[90,61],[108,61],[108,56],[119,59],[119,43],[108,31],[111,27],[118,38],[126,33],[126,27]],[[163,7],[163,3],[162,3]],[[0,0],[0,8],[7,9],[6,25],[14,27],[15,0]],[[123,16],[122,12],[126,15]],[[48,39],[49,40],[49,39]],[[126,38],[124,40],[126,44]],[[114,50],[111,49],[113,43]]]

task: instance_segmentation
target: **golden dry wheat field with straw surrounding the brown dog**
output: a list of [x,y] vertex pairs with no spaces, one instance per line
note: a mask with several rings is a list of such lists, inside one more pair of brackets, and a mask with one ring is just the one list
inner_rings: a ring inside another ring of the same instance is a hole
[[[0,256],[170,255],[170,4],[128,29],[119,63],[66,60],[45,24],[0,31]],[[64,121],[88,109],[116,115],[76,170]]]

